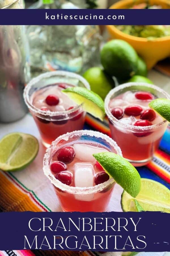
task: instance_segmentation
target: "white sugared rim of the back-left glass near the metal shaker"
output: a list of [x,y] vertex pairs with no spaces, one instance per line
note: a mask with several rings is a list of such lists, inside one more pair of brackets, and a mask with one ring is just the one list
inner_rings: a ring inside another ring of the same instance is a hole
[[47,117],[56,117],[58,115],[67,115],[67,114],[70,114],[70,113],[73,113],[75,112],[76,110],[78,110],[80,107],[82,107],[82,104],[78,105],[78,106],[75,106],[74,108],[72,108],[71,110],[65,110],[65,111],[56,111],[56,112],[52,112],[52,111],[43,111],[43,110],[40,110],[39,108],[36,108],[35,106],[33,106],[33,104],[30,102],[30,98],[29,98],[29,90],[31,89],[31,87],[39,82],[41,79],[44,79],[44,78],[48,78],[48,77],[51,77],[51,76],[65,76],[65,77],[71,77],[71,78],[76,78],[76,79],[79,79],[80,82],[82,82],[84,84],[84,86],[90,90],[90,85],[89,83],[87,82],[86,79],[84,79],[82,76],[76,74],[76,73],[72,73],[72,72],[68,72],[68,71],[51,71],[51,72],[46,72],[44,74],[41,74],[33,79],[31,79],[31,81],[25,86],[24,88],[24,100],[25,100],[25,103],[27,105],[27,107],[33,111],[34,113],[36,114],[40,114],[40,115],[44,115],[47,116]]

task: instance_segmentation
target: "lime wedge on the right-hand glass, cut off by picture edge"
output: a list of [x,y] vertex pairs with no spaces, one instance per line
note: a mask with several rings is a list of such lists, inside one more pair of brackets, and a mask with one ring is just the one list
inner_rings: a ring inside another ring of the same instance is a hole
[[170,100],[159,98],[149,103],[150,108],[155,110],[164,119],[170,122]]

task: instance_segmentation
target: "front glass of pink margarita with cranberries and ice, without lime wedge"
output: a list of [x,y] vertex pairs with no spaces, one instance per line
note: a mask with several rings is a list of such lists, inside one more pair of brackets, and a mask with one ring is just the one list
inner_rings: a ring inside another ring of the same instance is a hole
[[107,135],[86,130],[64,134],[47,149],[44,174],[54,185],[63,211],[106,210],[115,182],[92,156],[106,151],[122,155]]

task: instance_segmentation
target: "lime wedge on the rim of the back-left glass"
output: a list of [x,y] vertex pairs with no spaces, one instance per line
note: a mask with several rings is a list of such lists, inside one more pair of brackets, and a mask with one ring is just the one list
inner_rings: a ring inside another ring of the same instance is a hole
[[103,121],[105,117],[104,102],[98,94],[78,86],[69,87],[62,92],[67,94],[76,104],[83,103],[83,108],[86,112]]

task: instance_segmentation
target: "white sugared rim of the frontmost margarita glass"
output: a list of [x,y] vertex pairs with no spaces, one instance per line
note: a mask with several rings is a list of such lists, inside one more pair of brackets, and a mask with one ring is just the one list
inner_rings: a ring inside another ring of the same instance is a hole
[[84,195],[84,194],[91,194],[91,193],[97,193],[101,190],[103,190],[105,187],[108,185],[114,183],[114,179],[110,178],[108,181],[105,181],[104,183],[95,185],[93,187],[70,187],[66,184],[63,184],[61,181],[57,180],[54,175],[51,173],[49,164],[48,164],[48,159],[50,157],[50,151],[53,147],[55,147],[58,142],[61,139],[64,139],[65,137],[74,137],[75,135],[81,136],[81,135],[90,135],[90,136],[95,136],[97,138],[104,139],[107,141],[114,149],[116,150],[117,154],[122,156],[122,151],[120,147],[117,145],[115,141],[113,141],[109,136],[97,132],[97,131],[91,131],[91,130],[80,130],[80,131],[73,131],[71,133],[65,133],[61,136],[59,136],[55,141],[52,142],[51,146],[47,148],[46,154],[44,155],[44,160],[43,160],[43,171],[44,174],[50,179],[51,183],[56,186],[57,188],[61,189],[62,191],[67,191],[68,193],[72,194],[79,194],[79,195]]

